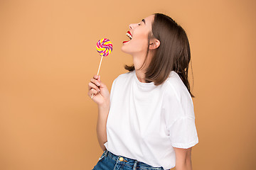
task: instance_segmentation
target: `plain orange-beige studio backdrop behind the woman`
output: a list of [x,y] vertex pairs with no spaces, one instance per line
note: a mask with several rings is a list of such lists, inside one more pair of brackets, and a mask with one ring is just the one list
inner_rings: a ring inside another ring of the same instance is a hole
[[0,1],[0,169],[92,169],[97,106],[87,96],[100,57],[112,81],[132,63],[129,23],[161,12],[191,43],[199,143],[193,169],[256,169],[256,1]]

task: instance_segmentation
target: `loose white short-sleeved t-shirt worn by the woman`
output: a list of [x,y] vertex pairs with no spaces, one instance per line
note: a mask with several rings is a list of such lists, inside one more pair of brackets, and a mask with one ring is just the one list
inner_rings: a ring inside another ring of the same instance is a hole
[[198,143],[193,101],[178,74],[164,84],[142,83],[135,71],[112,84],[105,147],[113,154],[151,166],[175,166],[174,147]]

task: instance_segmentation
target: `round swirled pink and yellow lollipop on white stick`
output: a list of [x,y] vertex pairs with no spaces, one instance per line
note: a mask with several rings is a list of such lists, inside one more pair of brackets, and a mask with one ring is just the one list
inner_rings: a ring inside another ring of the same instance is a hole
[[[102,38],[101,40],[99,40],[96,44],[96,49],[97,49],[97,52],[100,53],[100,56],[101,56],[101,59],[100,59],[100,66],[101,66],[101,63],[102,63],[102,58],[103,57],[107,57],[108,55],[110,55],[110,53],[112,52],[113,50],[113,45],[112,43],[110,42],[110,40],[108,40],[107,38]],[[100,72],[100,66],[99,66],[99,69],[98,69],[98,72],[97,72],[97,75],[99,75],[99,72]],[[92,94],[92,97],[93,98],[93,94]]]

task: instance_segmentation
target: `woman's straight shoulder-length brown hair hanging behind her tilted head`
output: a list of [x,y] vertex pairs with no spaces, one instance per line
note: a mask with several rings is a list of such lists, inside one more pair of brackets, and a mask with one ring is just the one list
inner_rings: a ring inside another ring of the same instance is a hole
[[[191,51],[185,30],[171,17],[162,13],[155,13],[152,31],[149,33],[149,40],[150,38],[159,40],[160,45],[154,52],[149,67],[146,69],[146,82],[153,81],[158,86],[166,81],[171,71],[174,71],[181,78],[183,84],[185,84],[191,97],[194,98],[195,96],[191,93],[188,82],[188,64],[191,60]],[[146,57],[148,54],[149,43]],[[124,68],[129,72],[135,69],[134,65],[125,65]]]

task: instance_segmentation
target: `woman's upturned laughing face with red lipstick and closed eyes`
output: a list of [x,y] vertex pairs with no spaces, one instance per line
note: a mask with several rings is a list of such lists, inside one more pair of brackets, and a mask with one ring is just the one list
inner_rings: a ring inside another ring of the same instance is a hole
[[129,25],[127,36],[129,41],[124,41],[121,50],[129,55],[146,55],[148,47],[148,35],[151,33],[151,25],[154,21],[154,15],[142,19],[139,23]]

